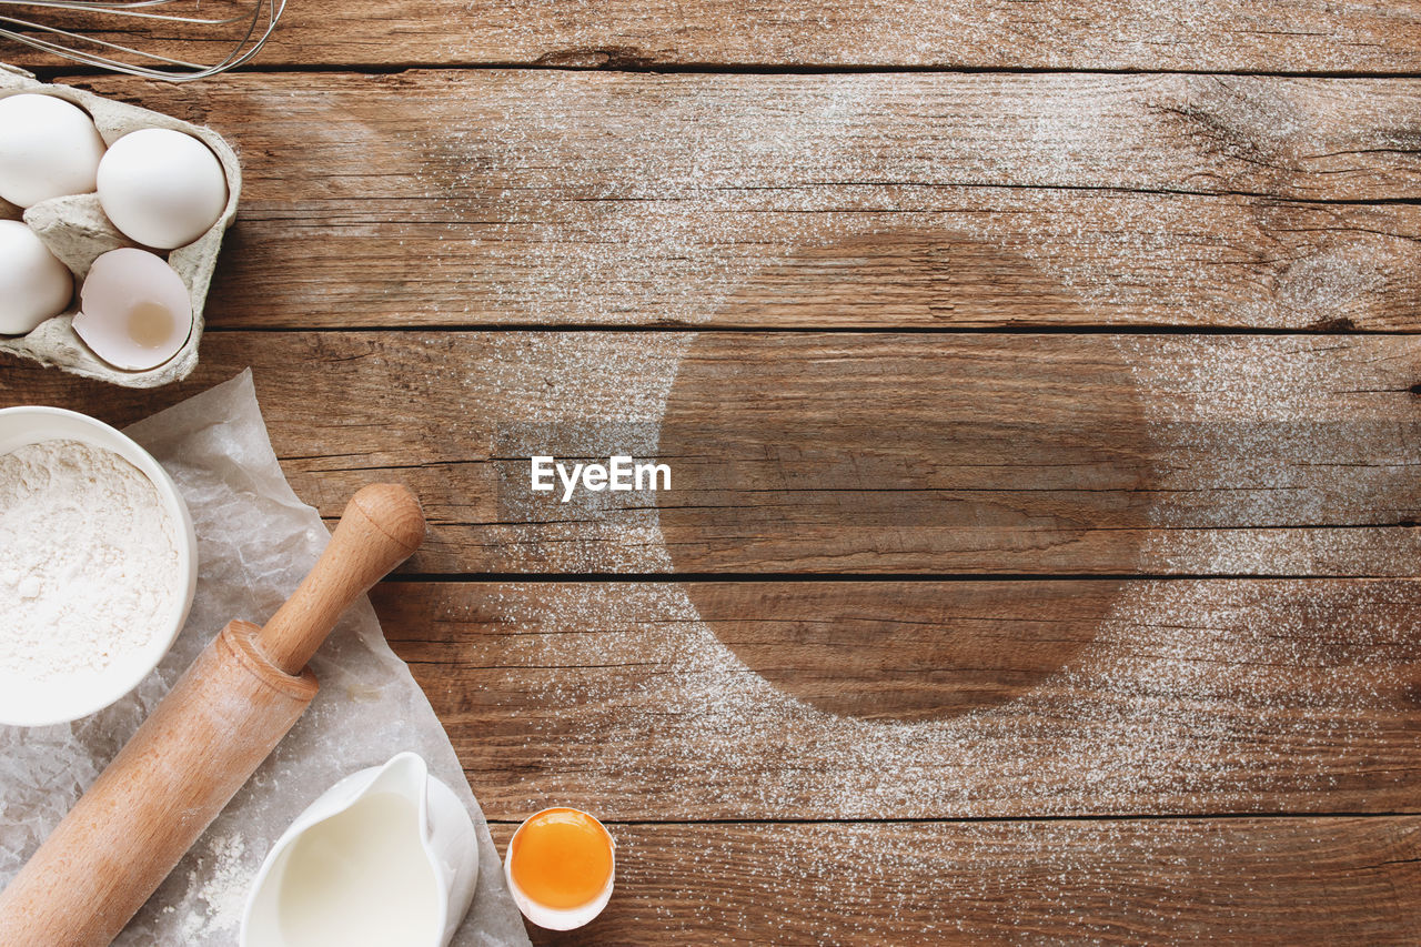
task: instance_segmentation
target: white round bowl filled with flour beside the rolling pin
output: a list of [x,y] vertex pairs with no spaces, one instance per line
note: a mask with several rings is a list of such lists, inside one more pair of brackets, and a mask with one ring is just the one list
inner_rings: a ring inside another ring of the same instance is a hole
[[74,721],[128,694],[196,586],[192,516],[144,448],[75,411],[0,410],[0,724]]

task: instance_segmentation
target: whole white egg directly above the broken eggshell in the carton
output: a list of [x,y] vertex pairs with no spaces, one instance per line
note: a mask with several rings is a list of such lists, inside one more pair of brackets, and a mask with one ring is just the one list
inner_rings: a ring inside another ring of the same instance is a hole
[[98,165],[98,202],[114,226],[162,250],[192,243],[227,206],[222,162],[192,135],[144,128],[114,142]]

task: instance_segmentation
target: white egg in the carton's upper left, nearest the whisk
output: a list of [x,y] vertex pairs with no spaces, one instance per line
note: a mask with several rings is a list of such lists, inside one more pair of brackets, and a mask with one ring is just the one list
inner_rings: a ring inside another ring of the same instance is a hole
[[78,105],[24,92],[0,100],[0,198],[21,208],[95,188],[104,139]]

